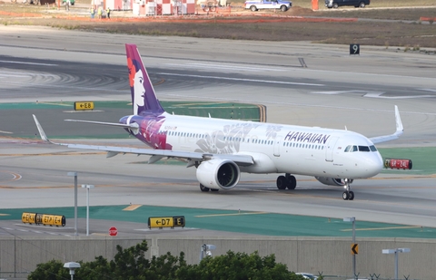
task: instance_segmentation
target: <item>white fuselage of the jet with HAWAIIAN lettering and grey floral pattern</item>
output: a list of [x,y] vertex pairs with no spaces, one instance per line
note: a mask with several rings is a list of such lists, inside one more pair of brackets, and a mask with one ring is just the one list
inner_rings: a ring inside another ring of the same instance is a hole
[[166,134],[172,150],[250,155],[254,164],[241,167],[243,172],[361,179],[382,169],[381,155],[371,140],[348,130],[163,116],[159,133]]

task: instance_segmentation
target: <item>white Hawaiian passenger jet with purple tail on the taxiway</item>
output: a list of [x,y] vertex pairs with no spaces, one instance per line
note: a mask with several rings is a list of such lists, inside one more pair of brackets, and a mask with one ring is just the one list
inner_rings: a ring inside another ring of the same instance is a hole
[[135,44],[125,44],[133,113],[118,123],[77,121],[124,128],[151,149],[56,143],[45,135],[34,115],[42,140],[72,149],[104,150],[107,158],[119,153],[179,159],[196,168],[203,192],[234,188],[241,173],[282,173],[279,189],[294,189],[293,175],[312,176],[324,185],[344,188],[342,198],[353,200],[354,179],[367,179],[383,168],[374,144],[395,140],[403,132],[400,112],[395,106],[394,133],[366,138],[351,130],[333,130],[255,121],[235,121],[173,115],[163,110]]

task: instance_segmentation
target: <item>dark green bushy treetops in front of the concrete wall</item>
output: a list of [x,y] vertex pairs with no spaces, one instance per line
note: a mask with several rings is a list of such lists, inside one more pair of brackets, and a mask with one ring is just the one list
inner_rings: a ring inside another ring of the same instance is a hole
[[[275,256],[259,256],[258,252],[247,255],[228,251],[223,256],[207,256],[199,265],[187,265],[184,253],[172,256],[166,253],[145,257],[147,242],[124,249],[116,246],[114,260],[107,261],[103,256],[95,257],[88,263],[79,262],[74,280],[302,280],[301,275],[288,271],[287,267],[275,262]],[[64,263],[56,260],[40,264],[29,280],[70,279]]]

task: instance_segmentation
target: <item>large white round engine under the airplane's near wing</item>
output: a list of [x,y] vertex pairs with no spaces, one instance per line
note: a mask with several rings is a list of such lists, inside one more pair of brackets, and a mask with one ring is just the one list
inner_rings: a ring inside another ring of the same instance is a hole
[[233,188],[240,176],[238,165],[228,159],[205,160],[197,168],[197,180],[206,188]]

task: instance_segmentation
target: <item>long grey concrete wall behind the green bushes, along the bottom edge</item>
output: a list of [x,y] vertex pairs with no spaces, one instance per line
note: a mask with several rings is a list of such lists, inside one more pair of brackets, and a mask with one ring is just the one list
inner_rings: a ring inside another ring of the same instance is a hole
[[[289,270],[352,277],[351,238],[338,237],[0,237],[0,278],[25,278],[37,264],[51,259],[92,261],[95,256],[112,259],[115,246],[124,248],[147,240],[149,256],[184,252],[188,263],[199,261],[200,246],[213,244],[213,256],[227,251],[275,254]],[[393,278],[394,256],[382,249],[408,247],[399,256],[399,277],[436,280],[436,240],[407,238],[359,238],[356,272],[359,277]]]

